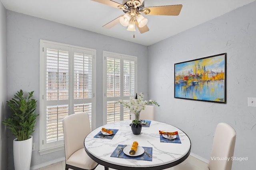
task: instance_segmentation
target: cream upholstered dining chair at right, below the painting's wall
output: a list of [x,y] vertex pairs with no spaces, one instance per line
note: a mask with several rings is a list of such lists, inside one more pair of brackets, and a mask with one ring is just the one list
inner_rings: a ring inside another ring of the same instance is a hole
[[[202,170],[231,170],[232,156],[236,143],[236,131],[227,123],[218,123],[212,143],[212,151],[209,163]],[[226,160],[216,160],[214,158],[229,158]],[[195,170],[195,166],[186,163],[173,167],[173,170]]]

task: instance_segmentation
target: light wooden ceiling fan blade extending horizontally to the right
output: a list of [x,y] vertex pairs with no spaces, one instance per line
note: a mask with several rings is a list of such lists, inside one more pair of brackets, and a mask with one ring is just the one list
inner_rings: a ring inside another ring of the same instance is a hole
[[182,5],[152,6],[145,7],[141,12],[146,15],[178,16],[181,8]]

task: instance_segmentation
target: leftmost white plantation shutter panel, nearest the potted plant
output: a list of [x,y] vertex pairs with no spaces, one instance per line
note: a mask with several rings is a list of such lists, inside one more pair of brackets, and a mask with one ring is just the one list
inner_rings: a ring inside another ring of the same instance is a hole
[[46,49],[46,143],[63,139],[68,115],[68,51]]

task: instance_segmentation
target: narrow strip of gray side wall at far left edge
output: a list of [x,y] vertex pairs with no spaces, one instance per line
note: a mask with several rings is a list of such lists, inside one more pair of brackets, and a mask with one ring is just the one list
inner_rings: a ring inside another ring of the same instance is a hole
[[6,119],[6,9],[0,1],[0,169],[7,168],[7,131],[2,121]]

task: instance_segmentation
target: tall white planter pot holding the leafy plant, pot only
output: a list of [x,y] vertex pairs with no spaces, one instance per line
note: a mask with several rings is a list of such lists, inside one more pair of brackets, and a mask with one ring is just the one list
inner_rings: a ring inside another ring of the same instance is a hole
[[13,158],[15,170],[30,169],[32,141],[32,136],[25,141],[17,141],[17,138],[13,140]]

